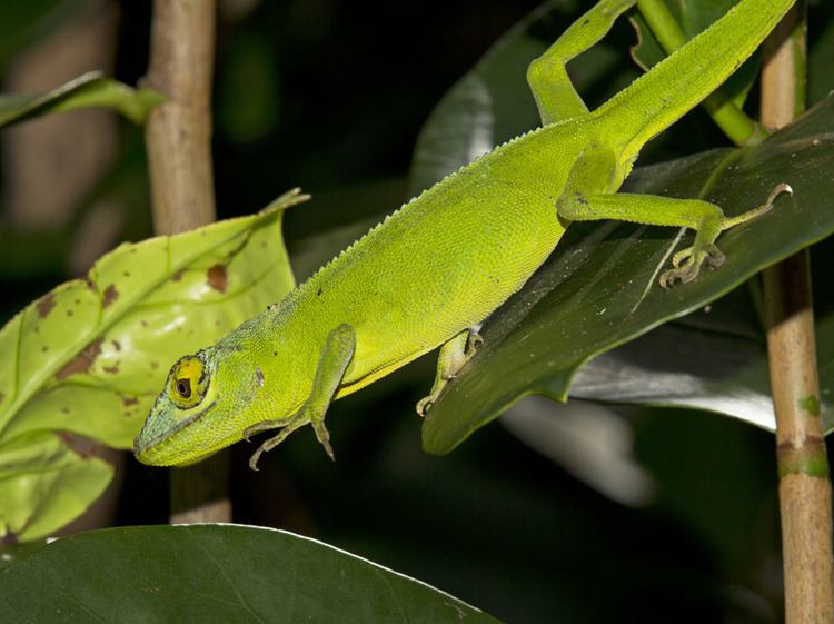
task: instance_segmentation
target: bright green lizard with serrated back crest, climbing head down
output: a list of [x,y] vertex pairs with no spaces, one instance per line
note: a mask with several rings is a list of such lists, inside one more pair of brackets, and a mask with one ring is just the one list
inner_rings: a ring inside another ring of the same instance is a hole
[[727,218],[697,199],[618,194],[643,145],[715,90],[793,0],[742,0],[594,111],[565,63],[596,43],[635,0],[602,0],[529,67],[543,126],[448,176],[371,229],[308,281],[217,345],[177,361],[135,442],[151,465],[197,462],[241,438],[281,430],[250,459],[311,424],[334,456],[331,400],[443,345],[424,413],[471,356],[476,327],[545,261],[572,221],[620,219],[696,230],[663,286],[724,256]]

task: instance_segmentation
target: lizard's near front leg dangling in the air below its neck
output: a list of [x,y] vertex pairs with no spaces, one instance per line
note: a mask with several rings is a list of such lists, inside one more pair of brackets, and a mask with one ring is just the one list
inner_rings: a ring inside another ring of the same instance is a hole
[[258,469],[258,459],[261,454],[267,453],[284,442],[289,434],[310,424],[316,432],[321,446],[330,459],[336,459],[332,447],[330,446],[330,434],[325,426],[325,414],[332,402],[336,390],[339,388],[345,370],[347,370],[354,351],[356,350],[356,333],[349,325],[339,325],[336,329],[327,335],[325,348],[316,367],[316,375],[312,379],[312,389],[304,405],[288,418],[277,418],[274,420],[264,420],[251,427],[247,427],[244,437],[249,437],[256,433],[267,429],[280,428],[278,435],[264,442],[258,449],[252,453],[249,459],[249,467],[252,471]]

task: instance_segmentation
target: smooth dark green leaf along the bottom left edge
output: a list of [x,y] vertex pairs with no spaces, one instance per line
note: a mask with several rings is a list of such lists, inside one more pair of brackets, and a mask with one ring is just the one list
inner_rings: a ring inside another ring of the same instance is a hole
[[498,622],[331,546],[235,525],[66,537],[0,571],[0,594],[6,624]]

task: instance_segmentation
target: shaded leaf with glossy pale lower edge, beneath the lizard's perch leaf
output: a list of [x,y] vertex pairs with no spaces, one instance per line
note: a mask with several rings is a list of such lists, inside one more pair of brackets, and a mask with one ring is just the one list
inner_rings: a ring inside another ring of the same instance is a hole
[[[812,249],[814,284],[831,284],[831,237]],[[695,407],[773,432],[775,420],[758,281],[748,283],[673,323],[594,358],[574,378],[570,396],[615,403]],[[817,289],[816,357],[823,428],[834,430],[834,298]],[[686,354],[685,358],[681,354]]]

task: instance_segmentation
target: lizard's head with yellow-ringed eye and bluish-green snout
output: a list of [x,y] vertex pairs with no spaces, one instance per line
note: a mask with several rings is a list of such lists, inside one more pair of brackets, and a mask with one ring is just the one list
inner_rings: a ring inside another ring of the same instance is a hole
[[[218,377],[245,372],[218,357],[218,347],[188,355],[175,363],[165,388],[153,403],[145,426],[133,440],[133,454],[143,464],[193,464],[240,438],[236,416],[248,406],[238,393],[222,393]],[[234,370],[232,370],[234,369]],[[251,396],[251,395],[250,395]]]

